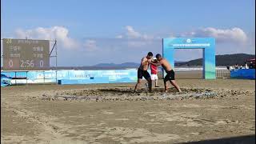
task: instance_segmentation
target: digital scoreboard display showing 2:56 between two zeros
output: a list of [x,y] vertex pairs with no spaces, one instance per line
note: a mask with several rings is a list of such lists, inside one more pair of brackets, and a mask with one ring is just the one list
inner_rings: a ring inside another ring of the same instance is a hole
[[2,39],[3,70],[50,70],[50,42]]

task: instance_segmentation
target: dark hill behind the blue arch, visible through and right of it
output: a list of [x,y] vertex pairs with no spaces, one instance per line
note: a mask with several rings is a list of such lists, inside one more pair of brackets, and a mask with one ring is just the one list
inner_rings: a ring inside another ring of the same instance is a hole
[[[224,54],[216,55],[216,66],[244,65],[247,59],[255,58],[253,54]],[[189,62],[177,62],[175,66],[202,66],[202,58],[194,59]]]

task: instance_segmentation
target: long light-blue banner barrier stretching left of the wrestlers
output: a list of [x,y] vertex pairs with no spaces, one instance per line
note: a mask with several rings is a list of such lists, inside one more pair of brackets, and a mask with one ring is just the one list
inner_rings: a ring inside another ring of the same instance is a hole
[[11,83],[13,84],[51,83],[58,82],[58,80],[65,80],[65,82],[78,80],[77,82],[89,83],[137,82],[137,70],[2,71],[1,74],[12,77]]

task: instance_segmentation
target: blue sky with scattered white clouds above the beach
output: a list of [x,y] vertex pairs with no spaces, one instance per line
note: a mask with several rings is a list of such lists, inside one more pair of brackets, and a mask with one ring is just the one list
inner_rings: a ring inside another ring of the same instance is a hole
[[1,0],[1,38],[56,39],[58,66],[139,63],[162,54],[162,38],[213,37],[216,54],[255,54],[254,35],[254,0]]

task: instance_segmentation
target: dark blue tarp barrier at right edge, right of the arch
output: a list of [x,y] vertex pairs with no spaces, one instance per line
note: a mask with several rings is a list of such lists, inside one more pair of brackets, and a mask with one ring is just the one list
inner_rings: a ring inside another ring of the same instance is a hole
[[255,79],[255,69],[234,69],[230,71],[230,78]]

